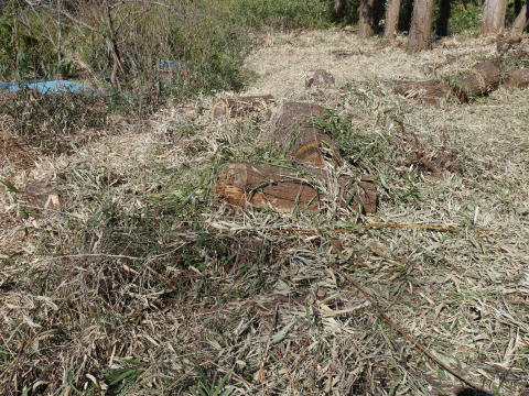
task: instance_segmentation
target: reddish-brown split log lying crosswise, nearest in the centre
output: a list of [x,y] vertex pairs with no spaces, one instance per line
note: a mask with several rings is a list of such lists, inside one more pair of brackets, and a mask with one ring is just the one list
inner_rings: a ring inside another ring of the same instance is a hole
[[320,193],[295,170],[280,166],[234,163],[215,189],[218,198],[241,208],[291,211],[295,207],[317,210]]

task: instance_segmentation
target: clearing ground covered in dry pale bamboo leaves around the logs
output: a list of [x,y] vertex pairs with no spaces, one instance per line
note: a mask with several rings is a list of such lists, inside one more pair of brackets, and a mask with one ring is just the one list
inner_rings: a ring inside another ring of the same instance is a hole
[[[218,98],[116,122],[35,166],[4,156],[1,393],[446,395],[463,385],[341,272],[468,381],[529,393],[529,90],[420,105],[393,94],[395,81],[451,75],[496,56],[496,44],[454,36],[419,55],[401,44],[273,34],[247,61],[258,77],[245,95],[332,111],[347,160],[335,172],[375,179],[374,215],[336,205],[332,190],[319,212],[215,199],[230,162],[292,166],[256,143],[263,114],[212,121]],[[336,85],[306,90],[305,73],[320,68]]]

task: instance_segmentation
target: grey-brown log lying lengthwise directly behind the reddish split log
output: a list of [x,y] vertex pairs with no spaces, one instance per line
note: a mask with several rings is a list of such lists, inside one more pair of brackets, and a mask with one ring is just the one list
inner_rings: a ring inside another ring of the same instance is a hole
[[316,120],[325,117],[325,109],[315,103],[287,102],[272,116],[263,143],[273,144],[289,153],[292,160],[323,166],[325,158],[339,163],[334,140]]

